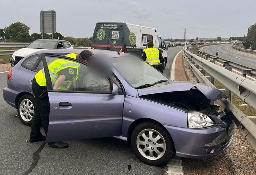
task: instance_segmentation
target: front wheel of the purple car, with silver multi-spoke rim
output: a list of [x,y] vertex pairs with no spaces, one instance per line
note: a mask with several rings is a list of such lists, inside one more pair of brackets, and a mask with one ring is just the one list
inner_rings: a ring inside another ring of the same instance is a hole
[[[155,140],[156,138],[158,139]],[[140,161],[153,166],[165,165],[174,150],[169,133],[163,126],[153,122],[143,122],[134,128],[131,134],[131,146]]]

